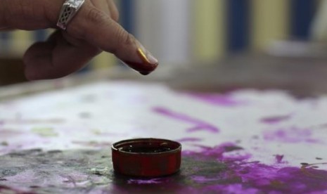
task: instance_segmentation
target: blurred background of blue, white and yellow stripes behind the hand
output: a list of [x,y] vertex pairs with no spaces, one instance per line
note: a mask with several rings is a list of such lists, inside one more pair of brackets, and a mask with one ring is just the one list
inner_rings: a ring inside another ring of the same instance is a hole
[[[165,67],[205,65],[234,53],[314,55],[316,47],[312,43],[324,45],[327,40],[327,0],[120,0],[116,3],[120,23]],[[0,85],[25,81],[21,62],[24,51],[51,32],[0,32]],[[110,68],[125,67],[111,54],[102,53],[78,73]]]

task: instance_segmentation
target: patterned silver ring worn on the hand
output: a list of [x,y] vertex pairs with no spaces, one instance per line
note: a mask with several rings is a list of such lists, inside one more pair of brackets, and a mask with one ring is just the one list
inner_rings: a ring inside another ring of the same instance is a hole
[[57,22],[57,26],[60,27],[61,30],[66,30],[68,23],[74,18],[79,8],[82,7],[84,1],[85,0],[66,0],[65,3],[63,3]]

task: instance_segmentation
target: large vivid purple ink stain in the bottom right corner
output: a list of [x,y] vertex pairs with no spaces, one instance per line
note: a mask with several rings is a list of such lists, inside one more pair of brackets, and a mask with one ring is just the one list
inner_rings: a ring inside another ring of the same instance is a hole
[[[235,158],[226,160],[224,153],[240,150],[237,145],[225,143],[214,148],[203,147],[201,152],[184,152],[184,157],[210,158],[223,161],[224,171],[217,174],[191,176],[194,183],[205,185],[201,193],[314,193],[327,190],[327,171],[314,169],[311,165],[302,167],[278,167],[248,162]],[[281,162],[283,155],[276,156]]]

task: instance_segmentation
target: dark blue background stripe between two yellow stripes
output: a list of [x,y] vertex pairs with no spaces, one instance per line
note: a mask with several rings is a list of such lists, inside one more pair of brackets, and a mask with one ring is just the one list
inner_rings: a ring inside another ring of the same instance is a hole
[[226,0],[228,50],[243,51],[249,45],[250,1]]

